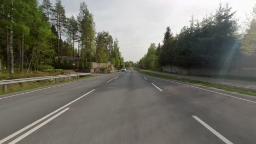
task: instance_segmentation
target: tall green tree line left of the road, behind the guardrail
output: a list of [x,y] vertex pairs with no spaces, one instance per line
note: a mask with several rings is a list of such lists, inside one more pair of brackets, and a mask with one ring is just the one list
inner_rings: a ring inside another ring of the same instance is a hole
[[[50,0],[0,1],[0,48],[0,71],[6,68],[10,74],[50,66],[71,68],[73,63],[80,68],[90,68],[90,62],[124,65],[118,40],[108,32],[96,33],[85,2],[76,17],[66,17],[61,0],[54,5]],[[64,56],[72,60],[63,61]]]

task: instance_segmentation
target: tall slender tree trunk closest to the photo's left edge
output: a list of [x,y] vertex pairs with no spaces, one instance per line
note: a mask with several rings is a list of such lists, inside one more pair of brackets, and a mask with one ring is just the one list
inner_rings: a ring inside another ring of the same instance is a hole
[[10,13],[10,74],[14,74],[14,57],[13,57],[13,1],[11,1],[11,13]]

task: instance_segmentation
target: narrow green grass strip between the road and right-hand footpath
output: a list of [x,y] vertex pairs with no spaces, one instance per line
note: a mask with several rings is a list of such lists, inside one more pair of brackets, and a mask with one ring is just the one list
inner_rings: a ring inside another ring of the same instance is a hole
[[[138,70],[138,69],[136,69],[136,70]],[[194,83],[194,84],[201,85],[201,86],[214,87],[214,88],[218,88],[218,89],[224,89],[226,91],[231,91],[231,92],[237,92],[237,93],[241,93],[241,94],[256,96],[256,89],[234,87],[234,86],[228,86],[228,85],[221,85],[221,84],[218,84],[218,83],[203,82],[203,81],[196,81],[196,80],[190,80],[190,79],[181,79],[181,78],[172,77],[172,76],[149,73],[147,71],[141,71],[141,70],[138,70],[138,71],[139,71],[139,73],[142,73],[142,74],[145,74],[145,75],[148,75],[148,76],[159,77],[161,79],[189,82],[189,83]]]

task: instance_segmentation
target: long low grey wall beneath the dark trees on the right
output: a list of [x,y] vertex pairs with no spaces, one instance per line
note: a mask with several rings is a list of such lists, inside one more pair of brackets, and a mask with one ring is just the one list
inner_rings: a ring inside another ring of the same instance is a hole
[[200,68],[181,68],[177,66],[162,66],[163,71],[182,74],[182,75],[222,75],[222,76],[238,76],[238,77],[254,77],[256,78],[256,68],[231,68],[231,69],[200,69]]

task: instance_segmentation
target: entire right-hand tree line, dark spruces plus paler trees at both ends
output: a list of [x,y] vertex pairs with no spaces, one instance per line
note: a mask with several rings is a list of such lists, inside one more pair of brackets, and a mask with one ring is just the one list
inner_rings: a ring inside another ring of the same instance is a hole
[[202,21],[191,16],[190,26],[184,26],[175,36],[167,27],[162,45],[151,44],[139,64],[146,69],[162,65],[220,69],[227,67],[226,63],[242,51],[255,55],[256,7],[244,37],[238,35],[235,13],[228,4],[220,4],[215,15],[208,15]]

